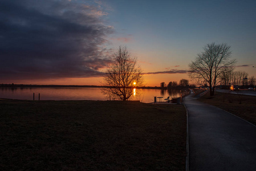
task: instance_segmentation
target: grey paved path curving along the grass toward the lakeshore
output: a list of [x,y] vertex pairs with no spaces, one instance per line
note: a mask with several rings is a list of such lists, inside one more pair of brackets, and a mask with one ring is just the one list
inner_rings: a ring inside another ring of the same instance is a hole
[[256,127],[189,95],[189,169],[256,170]]

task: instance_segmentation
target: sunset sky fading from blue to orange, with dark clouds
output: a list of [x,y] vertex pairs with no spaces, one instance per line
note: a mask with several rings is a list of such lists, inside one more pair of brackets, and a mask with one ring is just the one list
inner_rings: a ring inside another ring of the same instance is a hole
[[0,84],[100,85],[126,45],[146,86],[160,86],[189,79],[188,64],[212,42],[256,77],[255,30],[254,0],[1,0]]

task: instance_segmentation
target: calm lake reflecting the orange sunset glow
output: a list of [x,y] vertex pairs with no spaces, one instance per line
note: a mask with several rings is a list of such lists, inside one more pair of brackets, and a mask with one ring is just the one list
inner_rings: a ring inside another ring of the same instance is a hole
[[[144,103],[152,103],[154,97],[161,96],[162,101],[168,96],[180,97],[180,91],[168,91],[163,89],[134,89],[131,100],[140,100]],[[0,98],[19,100],[109,100],[101,92],[100,88],[0,88]],[[158,101],[159,99],[157,99]]]

